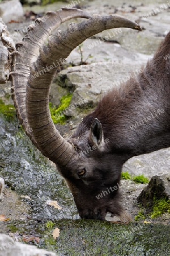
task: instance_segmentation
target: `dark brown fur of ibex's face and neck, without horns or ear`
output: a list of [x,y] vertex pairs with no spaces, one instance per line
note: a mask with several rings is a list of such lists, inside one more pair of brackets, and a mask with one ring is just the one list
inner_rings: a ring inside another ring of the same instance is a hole
[[[62,174],[81,217],[104,219],[108,211],[124,217],[118,189],[99,200],[96,196],[120,182],[126,160],[170,146],[170,59],[164,59],[169,52],[170,33],[143,72],[108,92],[72,135],[70,141],[78,154],[82,151],[86,154],[75,155],[63,167]],[[159,110],[164,113],[158,114]],[[154,118],[131,129],[151,113]],[[90,129],[95,118],[101,123],[104,141],[109,139],[109,143],[87,152],[94,145]],[[79,177],[76,174],[79,169],[86,170],[86,174]]]

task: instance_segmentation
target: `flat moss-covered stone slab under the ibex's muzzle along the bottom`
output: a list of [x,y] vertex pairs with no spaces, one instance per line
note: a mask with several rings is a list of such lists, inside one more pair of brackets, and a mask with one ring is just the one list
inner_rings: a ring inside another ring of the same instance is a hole
[[[17,224],[20,230],[27,227],[24,233],[30,234],[33,222],[18,221]],[[169,255],[169,226],[63,219],[54,223],[52,228],[45,229],[44,224],[37,224],[34,234],[41,238],[38,247],[52,250],[58,256]],[[55,228],[60,230],[56,240],[53,238]]]

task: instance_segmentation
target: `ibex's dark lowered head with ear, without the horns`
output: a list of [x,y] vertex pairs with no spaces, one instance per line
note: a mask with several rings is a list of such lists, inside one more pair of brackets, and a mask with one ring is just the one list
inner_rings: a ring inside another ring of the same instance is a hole
[[69,142],[74,154],[65,166],[57,166],[73,193],[80,217],[103,220],[107,212],[123,217],[118,195],[123,160],[116,155],[114,160],[99,119],[84,118]]

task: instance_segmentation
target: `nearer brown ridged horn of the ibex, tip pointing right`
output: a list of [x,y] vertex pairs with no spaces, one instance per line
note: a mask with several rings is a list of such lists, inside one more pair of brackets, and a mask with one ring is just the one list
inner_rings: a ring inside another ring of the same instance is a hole
[[[65,12],[65,10],[66,9],[63,9],[62,11]],[[83,13],[83,15],[84,18],[90,18],[89,14]],[[45,23],[43,25],[45,26]],[[61,137],[50,117],[49,88],[54,75],[56,74],[56,67],[54,67],[56,65],[54,65],[54,63],[60,59],[65,59],[76,46],[78,46],[88,37],[103,30],[116,27],[130,27],[136,30],[140,30],[140,27],[137,23],[131,22],[130,20],[118,15],[93,15],[87,21],[83,21],[79,24],[71,23],[66,31],[58,31],[57,36],[49,36],[47,45],[44,44],[42,46],[41,44],[42,47],[39,46],[40,55],[37,57],[35,63],[31,65],[31,73],[29,77],[28,73],[26,72],[26,76],[28,77],[26,96],[27,116],[24,112],[24,117],[26,121],[28,118],[29,126],[32,129],[32,133],[29,133],[29,136],[33,138],[33,142],[41,150],[42,154],[47,156],[54,163],[66,164],[74,154],[74,147]],[[39,39],[41,36],[41,30],[37,31],[36,27],[31,27],[29,29],[31,29],[31,31],[29,31],[28,36],[24,39],[24,43],[27,44],[27,42],[29,42],[31,46],[34,46],[35,39],[37,40],[37,38]],[[38,32],[38,35],[35,34],[35,30]],[[44,34],[43,37],[45,37]],[[24,45],[22,47],[27,48]],[[27,62],[31,64],[28,49],[25,51]],[[35,59],[37,52],[35,54],[33,51],[31,51],[31,53],[31,58],[33,60]],[[19,53],[15,53],[15,56],[18,57],[18,60],[21,60]],[[20,65],[20,69],[21,66],[23,66],[23,64]],[[20,76],[21,79],[23,79],[23,72],[20,69]],[[41,72],[42,75],[38,76],[37,74],[40,74]],[[14,75],[15,73],[12,72],[11,76],[13,78]],[[18,75],[16,74],[16,76]],[[18,82],[22,84],[21,80]],[[15,81],[13,81],[13,84],[15,84]],[[16,89],[14,89],[14,98],[16,99],[15,90]]]

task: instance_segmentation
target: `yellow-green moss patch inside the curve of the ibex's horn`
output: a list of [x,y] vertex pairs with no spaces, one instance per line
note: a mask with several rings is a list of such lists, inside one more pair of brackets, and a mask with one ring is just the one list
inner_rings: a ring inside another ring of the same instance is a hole
[[57,109],[52,106],[51,102],[49,103],[50,114],[54,123],[60,123],[61,125],[65,124],[67,117],[63,113],[63,110],[65,110],[69,106],[72,95],[72,93],[69,93],[62,96],[60,100],[61,103],[59,104]]

